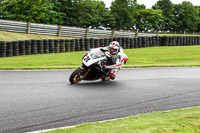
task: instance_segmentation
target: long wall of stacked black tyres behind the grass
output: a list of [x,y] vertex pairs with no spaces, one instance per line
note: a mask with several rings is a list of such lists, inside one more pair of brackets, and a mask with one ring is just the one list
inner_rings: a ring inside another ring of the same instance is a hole
[[44,39],[12,42],[0,41],[0,57],[88,51],[91,48],[107,46],[113,40],[118,41],[124,49],[154,46],[200,45],[200,36]]

